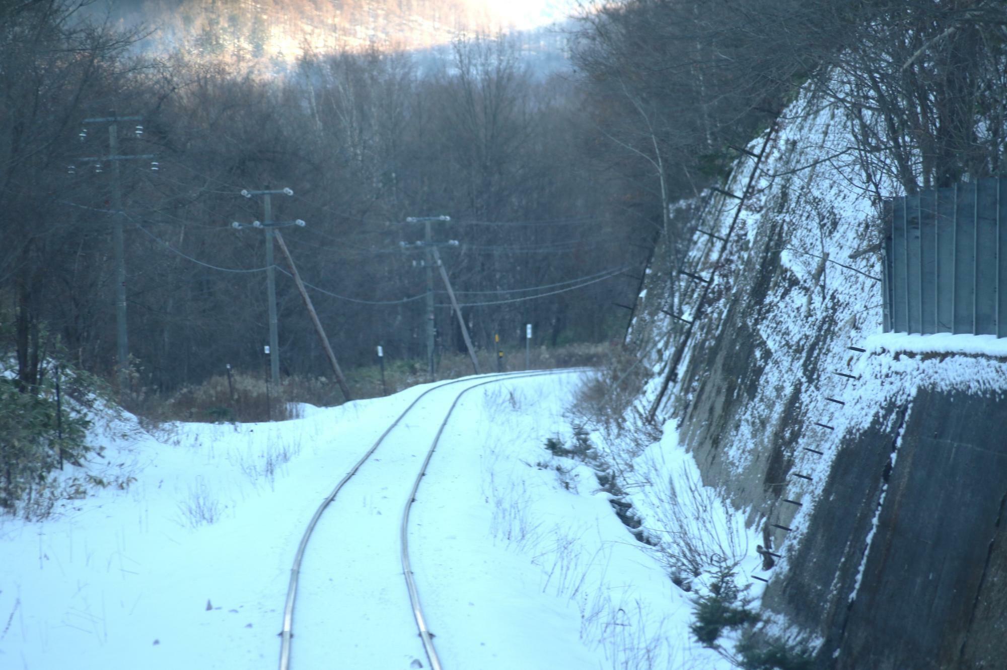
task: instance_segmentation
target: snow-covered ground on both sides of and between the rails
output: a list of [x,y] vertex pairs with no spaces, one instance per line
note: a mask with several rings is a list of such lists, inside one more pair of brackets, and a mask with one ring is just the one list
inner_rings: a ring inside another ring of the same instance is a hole
[[[474,383],[430,393],[326,510],[305,556],[292,667],[427,667],[398,519],[407,471]],[[452,414],[410,522],[444,667],[730,667],[691,640],[688,595],[616,518],[593,471],[543,448],[569,436],[577,383],[508,379]],[[307,520],[425,388],[157,438],[129,416],[99,424],[92,442],[106,449],[89,472],[107,488],[43,522],[0,517],[0,667],[275,667]],[[653,476],[677,476],[680,451],[668,436],[652,447]]]

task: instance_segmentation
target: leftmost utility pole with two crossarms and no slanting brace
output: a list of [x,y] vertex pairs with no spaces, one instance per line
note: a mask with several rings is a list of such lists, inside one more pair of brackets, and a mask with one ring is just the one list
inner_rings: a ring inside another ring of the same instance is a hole
[[[126,321],[126,248],[123,238],[123,195],[122,195],[122,174],[119,170],[119,161],[130,159],[154,158],[153,154],[136,154],[123,156],[119,153],[119,124],[120,121],[140,121],[143,117],[120,117],[115,110],[109,113],[108,117],[85,119],[85,124],[109,124],[109,155],[89,156],[80,158],[82,162],[95,163],[101,171],[101,164],[104,161],[112,163],[112,252],[116,264],[116,365],[119,371],[120,391],[125,390],[129,379],[129,327]],[[136,127],[136,136],[143,135],[143,126]],[[88,136],[87,129],[81,131],[80,138],[83,142]],[[153,166],[152,166],[153,167]],[[153,168],[156,169],[156,168]],[[70,169],[73,173],[73,166]]]

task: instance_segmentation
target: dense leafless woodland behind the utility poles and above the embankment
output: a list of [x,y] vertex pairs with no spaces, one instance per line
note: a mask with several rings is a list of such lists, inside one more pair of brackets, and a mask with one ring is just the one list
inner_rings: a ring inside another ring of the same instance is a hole
[[[376,21],[385,4],[353,12]],[[835,159],[867,183],[893,175],[911,192],[1002,171],[1002,2],[585,6],[565,35],[572,70],[548,76],[506,35],[457,35],[433,64],[306,48],[278,73],[257,58],[255,12],[192,7],[174,25],[195,41],[166,51],[144,48],[156,22],[104,20],[86,0],[0,2],[0,354],[23,392],[46,357],[113,378],[117,217],[132,383],[170,393],[225,363],[262,369],[264,235],[231,222],[263,212],[242,189],[293,189],[274,197],[274,219],[307,221],[284,239],[352,368],[378,344],[424,357],[423,254],[400,245],[422,234],[409,216],[452,217],[435,238],[459,241],[442,255],[477,348],[497,333],[520,346],[526,323],[547,345],[620,338],[628,312],[614,303],[632,304],[662,237],[653,262],[673,269],[690,238],[671,207],[722,183],[732,147],[803,86],[857,120],[856,146]],[[153,158],[81,160],[108,155],[109,124],[84,121],[112,111],[142,117],[118,124],[119,154]],[[435,288],[439,350],[460,351]],[[324,373],[282,273],[278,294],[284,374]]]

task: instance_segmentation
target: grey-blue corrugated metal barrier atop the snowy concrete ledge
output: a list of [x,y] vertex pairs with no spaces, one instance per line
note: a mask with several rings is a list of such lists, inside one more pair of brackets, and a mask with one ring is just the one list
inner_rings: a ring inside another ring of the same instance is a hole
[[884,329],[1007,337],[1007,177],[885,202]]

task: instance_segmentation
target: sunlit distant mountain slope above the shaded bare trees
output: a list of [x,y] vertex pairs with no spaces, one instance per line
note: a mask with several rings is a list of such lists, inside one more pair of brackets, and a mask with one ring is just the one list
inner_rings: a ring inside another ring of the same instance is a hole
[[[305,52],[423,49],[460,32],[524,35],[523,50],[562,52],[565,39],[550,30],[521,31],[563,19],[562,2],[484,0],[109,0],[95,18],[121,27],[146,26],[147,49],[185,47],[207,56],[290,62]],[[522,8],[528,8],[523,10]],[[529,48],[532,46],[534,48]]]

